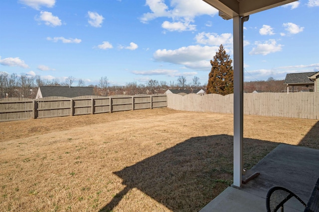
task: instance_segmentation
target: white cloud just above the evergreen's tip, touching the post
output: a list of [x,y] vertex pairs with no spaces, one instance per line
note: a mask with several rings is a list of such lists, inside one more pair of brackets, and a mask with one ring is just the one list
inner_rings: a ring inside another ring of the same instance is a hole
[[205,33],[201,32],[195,36],[196,43],[220,46],[220,44],[228,45],[233,44],[233,36],[231,33]]

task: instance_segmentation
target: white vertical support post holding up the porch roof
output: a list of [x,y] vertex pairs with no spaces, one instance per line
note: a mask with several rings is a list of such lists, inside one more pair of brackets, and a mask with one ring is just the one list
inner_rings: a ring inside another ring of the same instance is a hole
[[234,183],[240,187],[243,171],[243,18],[233,17],[234,36]]

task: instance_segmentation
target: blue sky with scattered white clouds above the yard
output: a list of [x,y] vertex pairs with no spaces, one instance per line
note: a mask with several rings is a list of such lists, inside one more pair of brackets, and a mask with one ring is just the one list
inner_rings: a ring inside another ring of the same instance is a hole
[[[0,71],[68,76],[98,84],[206,84],[223,44],[233,58],[233,21],[202,0],[1,0]],[[319,71],[319,0],[250,15],[244,80]]]

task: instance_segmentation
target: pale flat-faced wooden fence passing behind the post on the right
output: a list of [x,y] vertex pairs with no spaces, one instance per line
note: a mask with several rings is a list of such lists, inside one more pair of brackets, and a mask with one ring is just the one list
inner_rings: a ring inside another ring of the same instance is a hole
[[[182,111],[233,113],[234,94],[167,94],[167,107]],[[319,119],[319,93],[244,93],[244,114]]]

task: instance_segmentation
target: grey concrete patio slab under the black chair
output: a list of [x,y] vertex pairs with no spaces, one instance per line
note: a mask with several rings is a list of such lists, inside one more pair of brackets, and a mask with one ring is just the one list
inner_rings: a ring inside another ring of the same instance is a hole
[[[260,175],[241,188],[228,187],[200,212],[265,212],[273,186],[285,187],[307,203],[319,178],[319,149],[280,144],[251,171]],[[304,209],[294,199],[285,205],[286,212]]]

